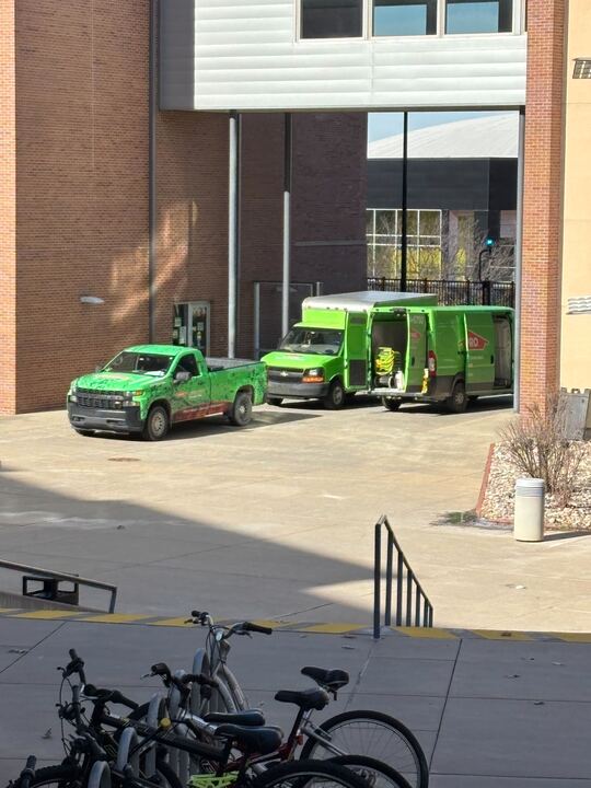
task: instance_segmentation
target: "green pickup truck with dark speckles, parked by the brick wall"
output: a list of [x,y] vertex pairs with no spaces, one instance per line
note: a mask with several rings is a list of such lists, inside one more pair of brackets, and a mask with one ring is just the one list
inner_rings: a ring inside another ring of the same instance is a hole
[[259,361],[204,358],[196,348],[138,345],[102,370],[72,381],[68,416],[80,434],[139,432],[162,440],[178,421],[223,414],[237,427],[265,401],[267,373]]

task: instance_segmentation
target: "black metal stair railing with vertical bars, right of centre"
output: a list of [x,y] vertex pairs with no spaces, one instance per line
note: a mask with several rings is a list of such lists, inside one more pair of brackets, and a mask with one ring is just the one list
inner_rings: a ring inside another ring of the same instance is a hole
[[386,570],[385,570],[385,607],[384,626],[392,625],[392,592],[394,586],[394,548],[396,549],[396,626],[433,626],[433,606],[422,590],[422,586],[410,565],[406,560],[401,545],[387,517],[382,514],[375,523],[374,565],[373,565],[373,637],[380,638],[382,628],[382,530],[385,529]]

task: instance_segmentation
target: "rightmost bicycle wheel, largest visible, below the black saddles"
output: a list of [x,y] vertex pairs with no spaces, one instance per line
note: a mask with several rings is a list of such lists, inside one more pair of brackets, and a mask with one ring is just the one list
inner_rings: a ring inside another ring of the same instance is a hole
[[381,711],[344,711],[325,720],[316,732],[318,739],[309,737],[300,757],[367,755],[395,768],[412,788],[428,788],[429,767],[422,748],[394,717]]

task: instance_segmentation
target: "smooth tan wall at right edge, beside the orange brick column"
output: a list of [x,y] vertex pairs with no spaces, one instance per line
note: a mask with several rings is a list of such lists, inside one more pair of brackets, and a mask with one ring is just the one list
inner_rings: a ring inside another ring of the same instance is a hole
[[572,79],[573,59],[591,57],[591,3],[570,0],[566,90],[560,385],[591,387],[591,315],[568,315],[591,296],[591,80]]

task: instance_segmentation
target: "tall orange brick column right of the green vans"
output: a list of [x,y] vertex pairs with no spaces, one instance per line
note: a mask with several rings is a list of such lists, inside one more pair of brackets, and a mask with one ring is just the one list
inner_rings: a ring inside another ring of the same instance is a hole
[[521,405],[558,386],[566,0],[528,3]]

